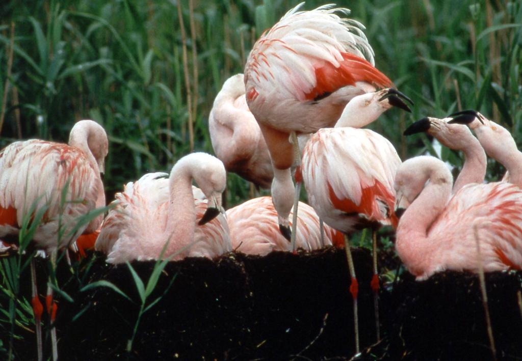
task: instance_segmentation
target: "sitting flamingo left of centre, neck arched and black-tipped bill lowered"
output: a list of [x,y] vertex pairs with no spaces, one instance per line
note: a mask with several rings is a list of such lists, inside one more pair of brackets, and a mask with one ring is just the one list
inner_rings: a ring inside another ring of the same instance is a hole
[[[172,167],[168,188],[165,179],[165,173],[146,174],[116,194],[114,208],[96,240],[96,249],[108,255],[107,262],[214,258],[231,250],[230,244],[209,246],[206,243],[213,240],[194,241],[197,224],[204,225],[220,213],[227,181],[223,163],[207,153],[188,154]],[[192,179],[208,200],[197,224]]]

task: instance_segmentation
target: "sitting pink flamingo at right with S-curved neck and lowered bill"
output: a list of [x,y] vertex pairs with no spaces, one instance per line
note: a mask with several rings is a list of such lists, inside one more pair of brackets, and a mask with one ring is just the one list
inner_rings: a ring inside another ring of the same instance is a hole
[[480,259],[485,272],[520,269],[522,190],[505,182],[469,184],[450,198],[452,183],[448,167],[434,157],[399,166],[397,201],[411,203],[395,244],[406,268],[417,280],[444,270],[479,272]]

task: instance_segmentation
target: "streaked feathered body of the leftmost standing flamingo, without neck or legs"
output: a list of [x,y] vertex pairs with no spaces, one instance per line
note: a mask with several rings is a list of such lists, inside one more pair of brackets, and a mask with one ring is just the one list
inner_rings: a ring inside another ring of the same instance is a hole
[[98,178],[93,165],[77,148],[41,140],[15,142],[0,153],[0,207],[4,221],[9,215],[6,224],[19,227],[32,206],[34,211],[46,207],[33,238],[40,247],[52,248],[62,224],[66,227],[61,239],[64,247],[87,227],[86,224],[75,231],[72,221],[96,208],[103,192]]

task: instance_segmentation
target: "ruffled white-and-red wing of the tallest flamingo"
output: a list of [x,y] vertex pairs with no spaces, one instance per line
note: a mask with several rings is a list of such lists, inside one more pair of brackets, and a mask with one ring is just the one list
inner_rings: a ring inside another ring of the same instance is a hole
[[[335,14],[348,9],[290,10],[254,45],[245,66],[246,98],[278,89],[281,99],[312,101],[358,81],[388,87],[392,82],[373,66],[373,50],[357,21]],[[366,57],[366,58],[365,58]]]

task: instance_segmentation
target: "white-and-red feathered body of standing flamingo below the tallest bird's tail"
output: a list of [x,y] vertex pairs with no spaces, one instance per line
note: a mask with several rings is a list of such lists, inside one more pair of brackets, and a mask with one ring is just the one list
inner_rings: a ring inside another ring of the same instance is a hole
[[396,226],[400,163],[392,144],[372,130],[320,129],[303,152],[303,181],[314,209],[338,230],[351,233],[366,222]]

